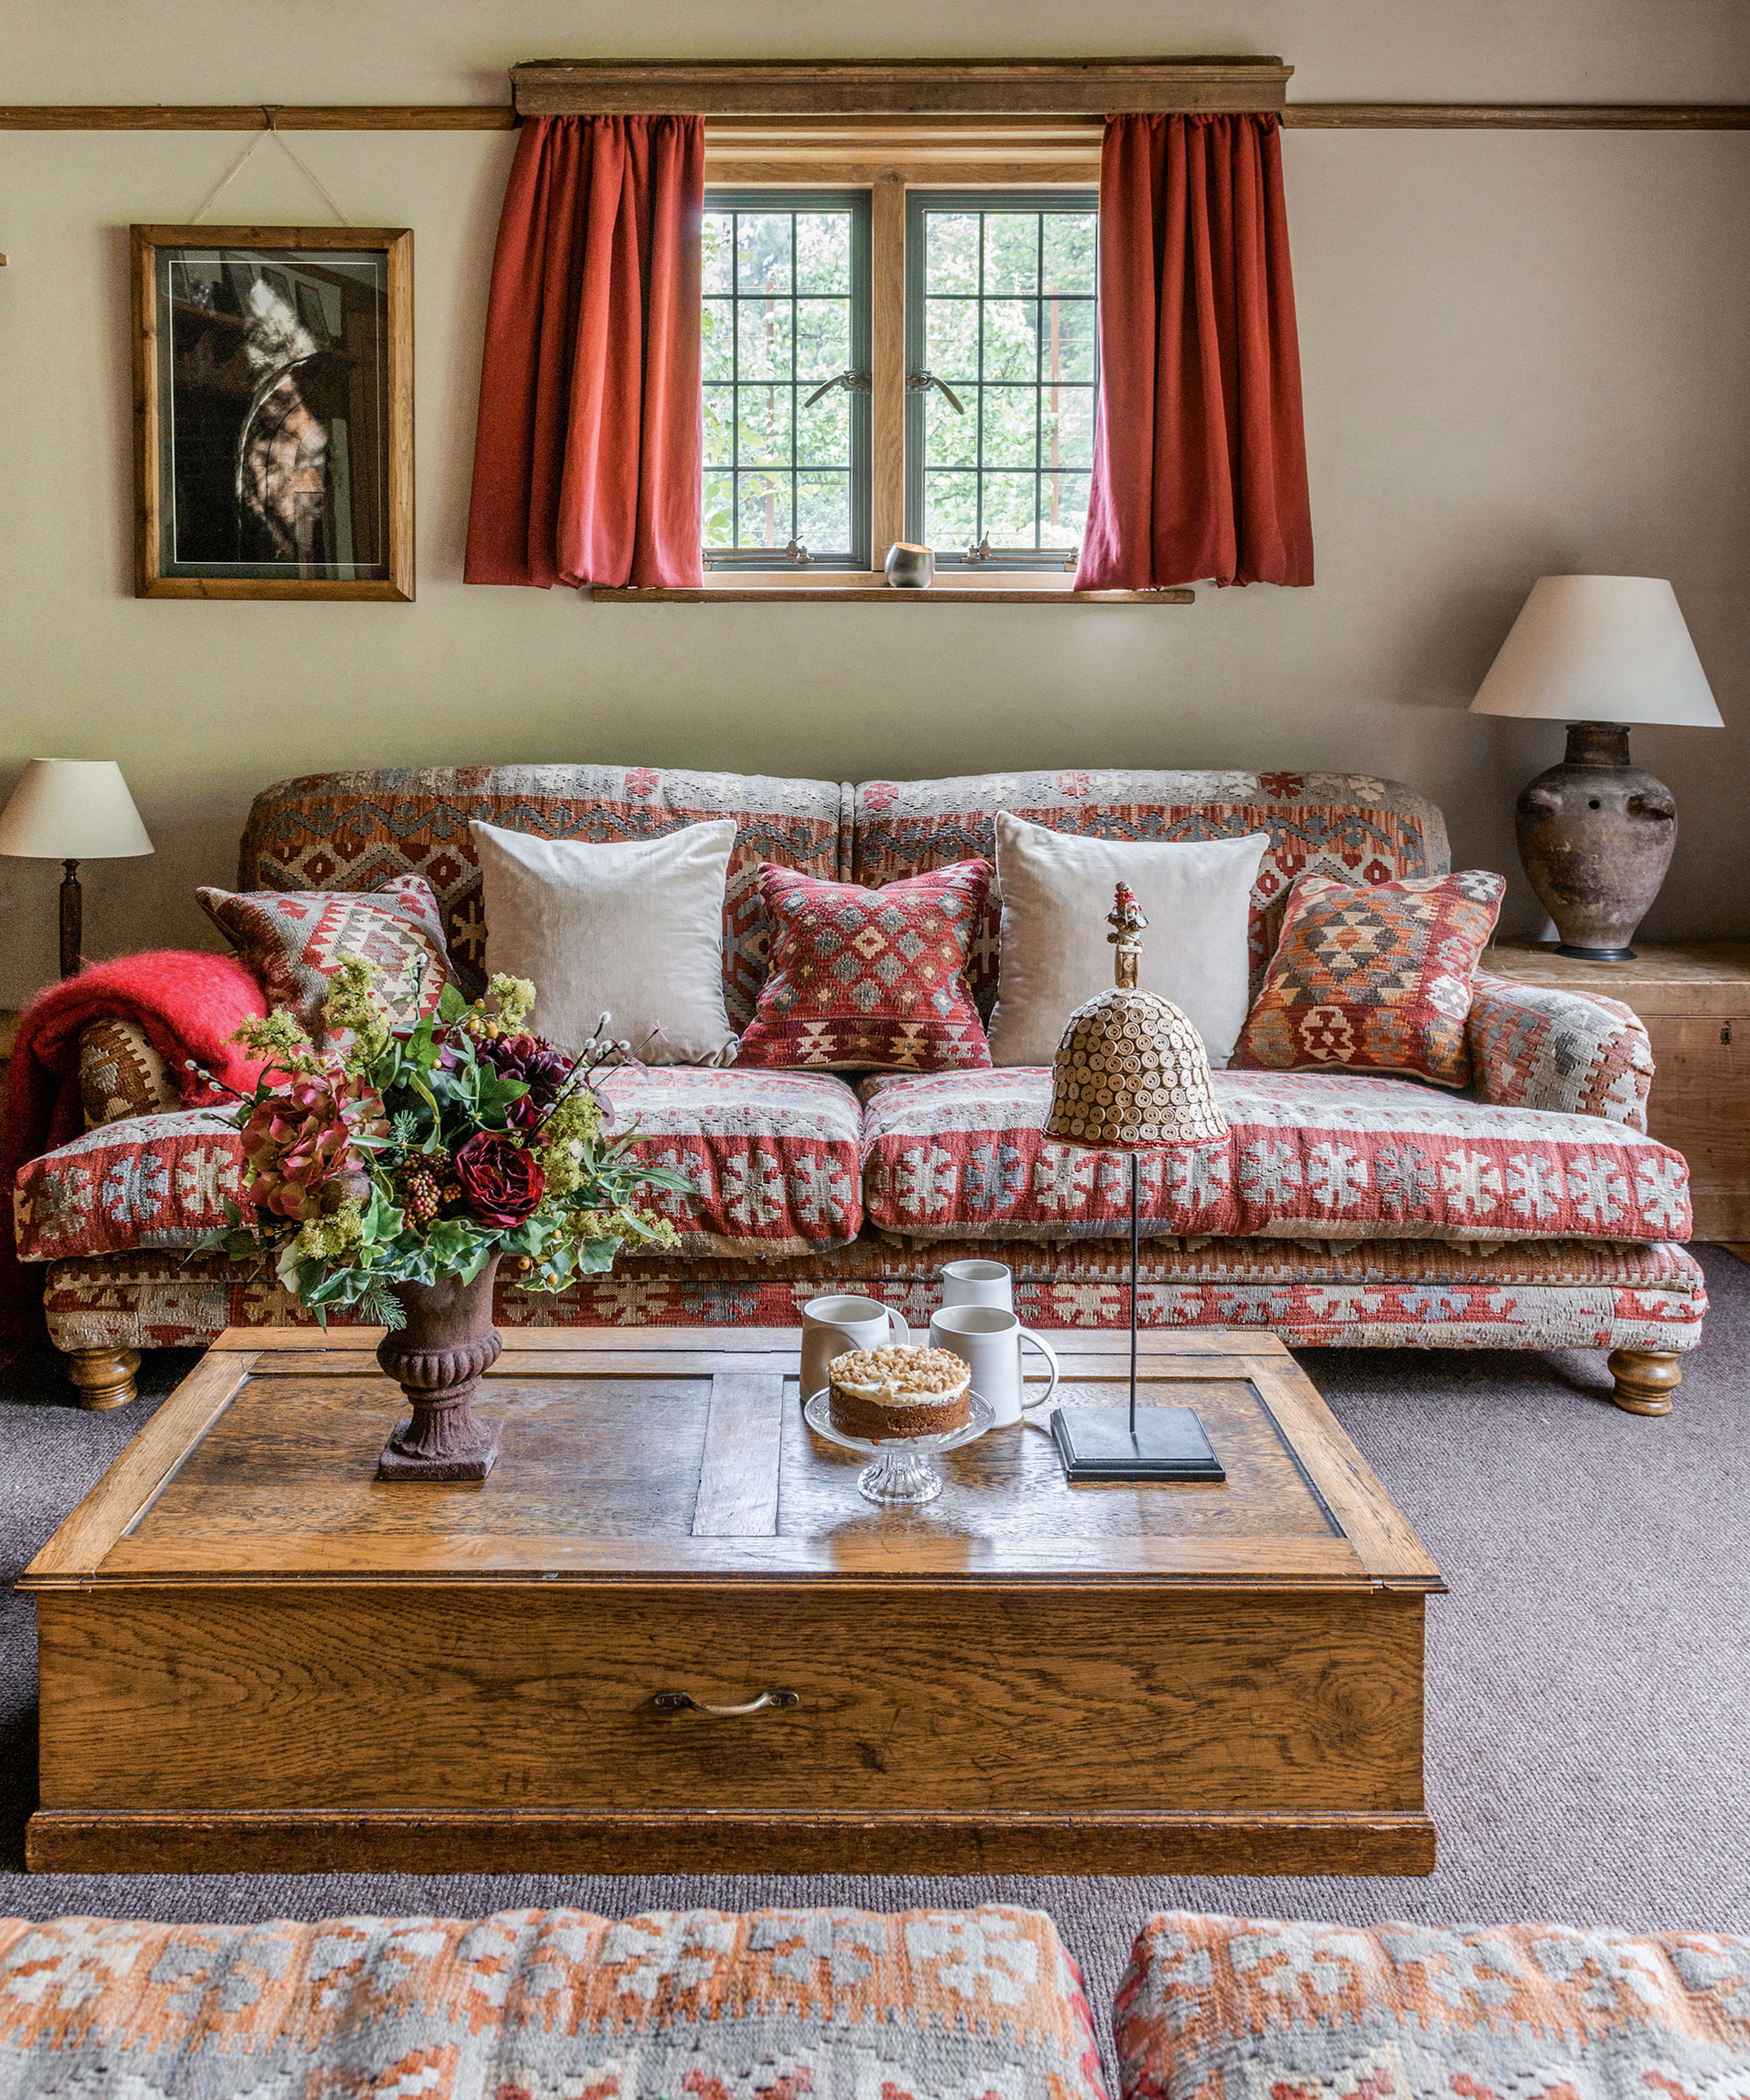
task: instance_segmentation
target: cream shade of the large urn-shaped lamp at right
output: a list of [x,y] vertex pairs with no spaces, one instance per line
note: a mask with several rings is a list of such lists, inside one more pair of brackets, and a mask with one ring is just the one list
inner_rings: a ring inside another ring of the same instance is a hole
[[1676,592],[1662,575],[1540,575],[1471,710],[1723,727]]

